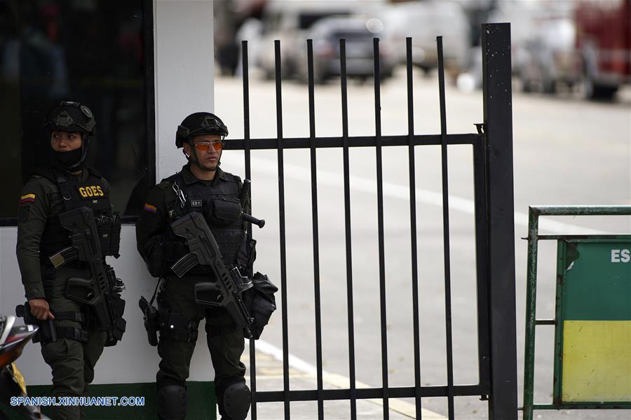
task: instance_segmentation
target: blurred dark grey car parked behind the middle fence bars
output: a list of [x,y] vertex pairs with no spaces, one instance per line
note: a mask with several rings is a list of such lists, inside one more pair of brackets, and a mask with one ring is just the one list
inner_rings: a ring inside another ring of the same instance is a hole
[[[369,31],[366,18],[331,17],[316,22],[306,33],[313,40],[313,80],[322,83],[331,76],[339,76],[339,40],[346,40],[346,75],[365,79],[374,73],[373,38],[379,34]],[[308,80],[306,48],[300,50],[298,75]],[[392,76],[395,66],[388,47],[379,48],[379,75],[382,79]]]

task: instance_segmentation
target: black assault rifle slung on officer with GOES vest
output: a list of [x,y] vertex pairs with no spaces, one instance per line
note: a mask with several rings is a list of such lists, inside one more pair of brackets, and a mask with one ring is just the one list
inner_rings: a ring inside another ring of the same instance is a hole
[[90,278],[68,279],[66,297],[93,307],[100,328],[107,331],[105,345],[113,346],[125,332],[125,301],[120,295],[125,285],[116,279],[114,269],[103,262],[92,209],[80,207],[65,211],[59,215],[59,220],[69,230],[72,245],[50,255],[49,260],[55,268],[74,260],[86,263]]

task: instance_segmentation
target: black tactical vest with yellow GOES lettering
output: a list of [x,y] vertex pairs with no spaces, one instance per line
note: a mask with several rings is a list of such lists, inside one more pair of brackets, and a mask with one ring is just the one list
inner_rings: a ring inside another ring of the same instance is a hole
[[[114,255],[118,257],[118,247],[121,240],[121,218],[112,212],[109,192],[105,187],[103,177],[93,169],[86,167],[88,177],[85,181],[76,179],[56,169],[43,169],[35,172],[44,176],[59,188],[59,197],[53,195],[51,200],[61,200],[64,205],[62,211],[69,211],[79,207],[89,207],[95,216],[95,224],[100,237],[102,256]],[[49,214],[41,236],[39,255],[43,263],[48,257],[62,248],[70,246],[70,236],[60,223],[59,214]]]

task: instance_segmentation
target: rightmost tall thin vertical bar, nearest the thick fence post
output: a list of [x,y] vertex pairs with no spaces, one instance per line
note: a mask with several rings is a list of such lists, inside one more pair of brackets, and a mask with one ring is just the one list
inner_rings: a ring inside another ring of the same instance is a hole
[[442,155],[442,230],[445,262],[445,335],[447,337],[447,406],[454,419],[454,353],[452,348],[452,274],[449,255],[449,183],[447,179],[447,111],[445,110],[445,63],[442,36],[436,37],[438,49],[438,90],[440,96],[440,139]]

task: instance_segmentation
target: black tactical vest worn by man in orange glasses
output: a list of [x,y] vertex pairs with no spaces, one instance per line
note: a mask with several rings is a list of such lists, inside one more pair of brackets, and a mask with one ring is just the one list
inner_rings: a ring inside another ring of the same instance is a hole
[[[182,173],[165,179],[175,188],[179,188],[184,193],[184,207],[180,206],[178,200],[175,201],[174,208],[170,213],[171,221],[180,216],[197,211],[203,214],[208,227],[215,236],[217,245],[222,252],[225,265],[235,265],[236,256],[242,242],[245,239],[245,232],[241,221],[241,202],[239,200],[238,177],[224,172],[227,182],[219,181],[216,185],[207,186],[203,182],[194,182],[186,185]],[[175,237],[168,229],[168,241],[182,242],[183,239]],[[169,255],[169,260],[175,261],[185,255],[186,246],[169,247],[175,255]],[[207,269],[191,269],[189,273],[208,272]]]

